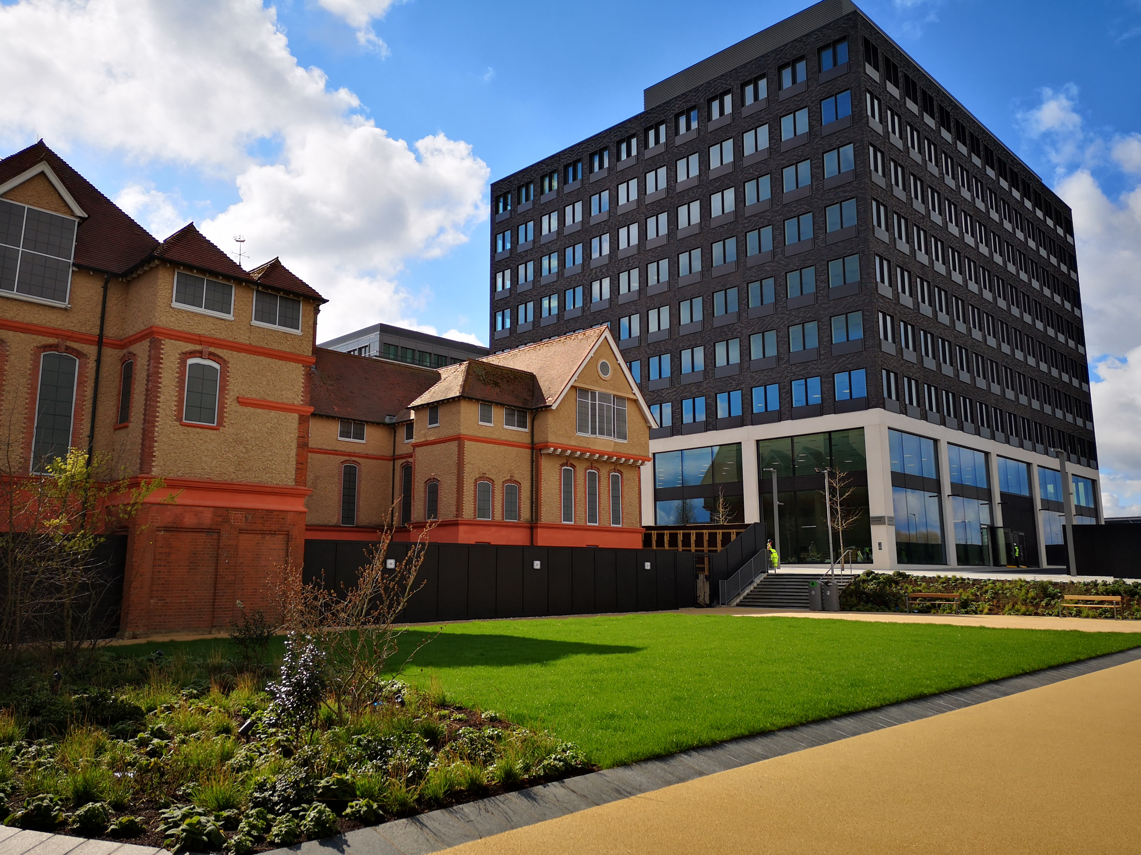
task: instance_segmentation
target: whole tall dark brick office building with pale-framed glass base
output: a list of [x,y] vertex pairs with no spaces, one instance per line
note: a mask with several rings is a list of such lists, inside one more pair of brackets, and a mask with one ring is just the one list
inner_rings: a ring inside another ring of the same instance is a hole
[[848,0],[492,198],[492,350],[610,325],[646,524],[771,527],[775,483],[783,560],[826,561],[828,467],[880,569],[1063,563],[1063,475],[1101,520],[1070,210]]

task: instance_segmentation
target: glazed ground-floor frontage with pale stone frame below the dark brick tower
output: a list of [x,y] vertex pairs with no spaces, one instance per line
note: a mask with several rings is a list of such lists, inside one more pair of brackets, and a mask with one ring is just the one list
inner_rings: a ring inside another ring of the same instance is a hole
[[[671,437],[652,451],[649,524],[763,521],[784,565],[841,553],[882,570],[1065,563],[1057,461],[942,425],[867,410]],[[1070,474],[1075,523],[1098,522],[1097,471],[1071,462]]]

